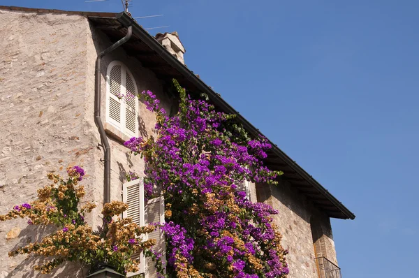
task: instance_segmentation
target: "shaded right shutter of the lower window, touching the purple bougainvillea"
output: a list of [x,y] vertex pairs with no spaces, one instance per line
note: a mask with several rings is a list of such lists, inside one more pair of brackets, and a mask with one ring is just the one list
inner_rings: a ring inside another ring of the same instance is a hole
[[[163,196],[154,198],[147,201],[145,206],[145,224],[152,223],[164,223],[164,198]],[[147,235],[149,240],[156,240],[156,245],[152,247],[153,251],[162,254],[161,258],[164,261],[166,259],[166,242],[164,234],[161,232],[160,228],[156,231],[149,233]],[[164,261],[166,264],[166,261]],[[154,261],[151,258],[147,258],[145,265],[145,278],[155,278],[157,277],[156,268],[154,268]]]

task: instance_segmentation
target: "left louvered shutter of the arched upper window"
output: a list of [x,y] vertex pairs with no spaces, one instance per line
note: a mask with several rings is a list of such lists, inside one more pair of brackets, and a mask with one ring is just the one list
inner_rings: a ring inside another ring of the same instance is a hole
[[122,65],[113,64],[108,68],[107,82],[107,122],[121,129],[122,101],[117,97],[122,94]]

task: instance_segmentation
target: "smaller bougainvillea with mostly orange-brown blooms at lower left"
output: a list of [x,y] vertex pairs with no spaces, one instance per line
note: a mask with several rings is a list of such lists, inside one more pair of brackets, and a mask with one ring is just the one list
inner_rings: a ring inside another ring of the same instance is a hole
[[[155,240],[142,241],[142,235],[155,230],[155,226],[140,227],[132,219],[119,219],[128,205],[113,201],[103,206],[103,225],[94,231],[86,221],[85,214],[96,207],[87,202],[80,207],[84,196],[84,186],[79,185],[84,170],[79,166],[68,168],[68,179],[49,174],[50,185],[38,189],[34,202],[16,205],[0,221],[27,218],[31,225],[55,225],[54,233],[42,238],[40,242],[29,243],[9,252],[9,256],[32,254],[43,257],[44,263],[35,269],[50,273],[66,261],[76,261],[83,266],[110,265],[120,273],[138,271],[138,261],[133,254],[150,249]],[[148,253],[148,252],[147,252]]]

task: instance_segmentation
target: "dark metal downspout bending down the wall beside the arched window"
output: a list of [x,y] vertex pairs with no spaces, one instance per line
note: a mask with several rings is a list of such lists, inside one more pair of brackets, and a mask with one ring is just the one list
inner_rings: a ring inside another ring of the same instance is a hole
[[98,54],[96,58],[96,70],[94,73],[94,123],[98,127],[99,134],[101,135],[102,147],[105,152],[104,154],[104,179],[103,179],[103,203],[110,203],[110,145],[108,137],[106,136],[105,129],[103,128],[103,123],[101,119],[101,59],[106,54],[117,49],[117,47],[126,43],[133,34],[133,27],[128,27],[128,32],[124,38],[120,39],[103,52]]

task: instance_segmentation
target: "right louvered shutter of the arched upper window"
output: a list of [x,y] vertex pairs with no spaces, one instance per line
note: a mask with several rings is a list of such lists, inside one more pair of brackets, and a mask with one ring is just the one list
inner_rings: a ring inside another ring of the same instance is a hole
[[137,111],[138,99],[137,89],[131,73],[126,69],[125,71],[125,130],[130,136],[136,136],[137,125]]

